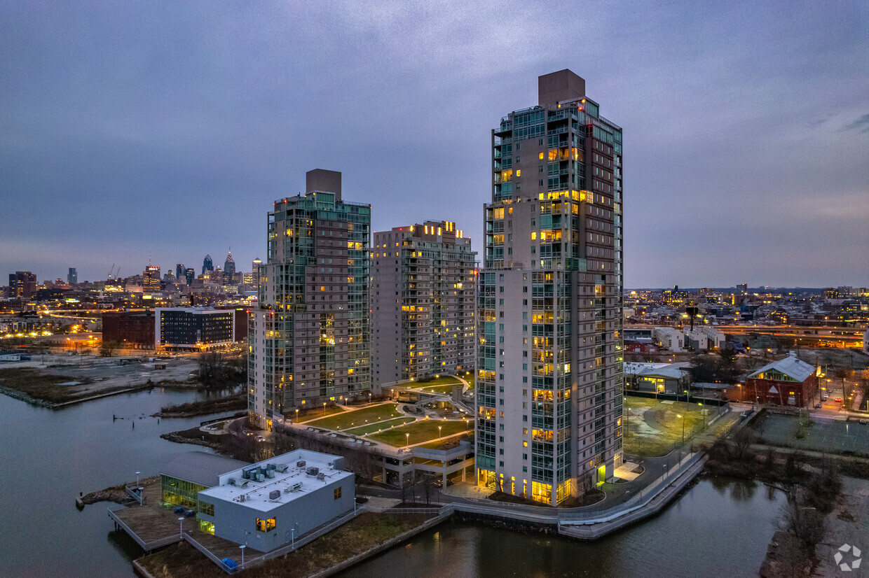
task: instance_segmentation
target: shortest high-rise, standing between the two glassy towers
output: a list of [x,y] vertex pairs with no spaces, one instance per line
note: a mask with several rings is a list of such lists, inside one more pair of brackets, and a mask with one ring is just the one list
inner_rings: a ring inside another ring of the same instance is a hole
[[474,368],[474,260],[455,223],[374,233],[371,326],[375,384]]

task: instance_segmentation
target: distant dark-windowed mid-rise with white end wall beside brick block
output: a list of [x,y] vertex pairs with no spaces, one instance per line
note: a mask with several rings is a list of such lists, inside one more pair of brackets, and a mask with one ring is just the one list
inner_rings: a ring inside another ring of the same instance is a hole
[[[157,307],[154,344],[164,351],[206,350],[235,341],[235,310]],[[242,323],[245,318],[242,316]]]

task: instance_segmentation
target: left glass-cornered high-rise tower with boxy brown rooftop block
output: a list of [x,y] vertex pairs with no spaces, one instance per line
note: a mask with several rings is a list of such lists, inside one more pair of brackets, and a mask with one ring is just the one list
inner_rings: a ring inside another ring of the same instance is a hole
[[371,390],[371,206],[342,200],[341,173],[308,171],[306,191],[275,201],[249,332],[249,413],[271,429],[297,406]]

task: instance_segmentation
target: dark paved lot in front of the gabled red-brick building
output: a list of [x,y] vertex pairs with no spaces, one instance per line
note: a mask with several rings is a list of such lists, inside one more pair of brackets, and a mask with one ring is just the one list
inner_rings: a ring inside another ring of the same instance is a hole
[[860,424],[855,420],[845,422],[814,419],[812,427],[806,430],[806,437],[797,439],[797,417],[767,415],[761,419],[764,423],[754,424],[754,429],[766,443],[802,450],[869,455],[869,424]]

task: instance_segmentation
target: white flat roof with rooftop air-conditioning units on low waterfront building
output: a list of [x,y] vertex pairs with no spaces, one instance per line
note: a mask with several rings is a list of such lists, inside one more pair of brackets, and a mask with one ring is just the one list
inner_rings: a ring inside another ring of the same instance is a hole
[[[268,512],[321,489],[329,483],[345,479],[348,476],[355,476],[353,472],[335,470],[333,467],[335,460],[342,459],[341,456],[332,456],[318,451],[290,451],[281,456],[226,472],[220,476],[219,485],[203,489],[199,495],[213,500],[240,502],[250,509]],[[296,465],[300,460],[304,460],[304,466]],[[255,467],[265,469],[269,464],[274,464],[275,470],[271,470],[272,477],[265,477],[262,482],[245,479],[242,476],[244,470]],[[323,480],[318,480],[316,475],[308,475],[308,468],[312,467],[317,468],[318,473],[323,474]],[[230,484],[230,479],[234,480],[235,484]],[[299,483],[301,486],[296,488],[296,484]],[[269,495],[275,490],[278,490],[280,495],[275,499],[270,499]]]

